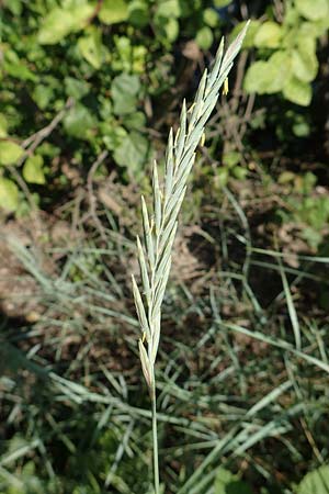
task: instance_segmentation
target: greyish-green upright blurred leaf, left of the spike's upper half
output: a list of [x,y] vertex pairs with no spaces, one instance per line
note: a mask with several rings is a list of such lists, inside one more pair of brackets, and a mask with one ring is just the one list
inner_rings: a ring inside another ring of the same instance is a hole
[[116,115],[126,115],[136,110],[137,94],[140,88],[139,78],[121,74],[111,85],[113,111]]

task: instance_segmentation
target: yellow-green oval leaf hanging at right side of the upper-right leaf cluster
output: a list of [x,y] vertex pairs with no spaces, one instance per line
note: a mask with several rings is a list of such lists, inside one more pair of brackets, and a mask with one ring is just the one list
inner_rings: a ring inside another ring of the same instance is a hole
[[313,38],[305,38],[298,43],[298,48],[293,50],[293,72],[304,82],[310,82],[316,78],[319,63],[316,55],[316,43]]

